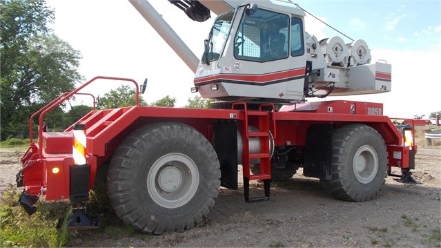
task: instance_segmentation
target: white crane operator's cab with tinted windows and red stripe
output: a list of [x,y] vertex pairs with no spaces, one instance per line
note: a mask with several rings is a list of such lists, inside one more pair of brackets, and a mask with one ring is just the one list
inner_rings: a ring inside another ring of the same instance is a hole
[[259,1],[219,15],[195,73],[202,97],[223,101],[303,102],[304,11]]

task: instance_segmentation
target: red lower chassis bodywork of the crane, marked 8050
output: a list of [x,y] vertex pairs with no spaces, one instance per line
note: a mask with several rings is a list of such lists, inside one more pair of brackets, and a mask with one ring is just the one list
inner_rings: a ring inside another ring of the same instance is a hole
[[[253,110],[248,110],[247,113],[248,116],[260,114]],[[395,128],[389,117],[382,115],[382,104],[351,101],[313,102],[263,114],[268,116],[268,130],[274,137],[275,146],[295,145],[300,148],[300,153],[306,144],[308,128],[312,124],[340,126],[351,122],[369,125],[382,135],[388,148],[389,166],[409,168],[409,151],[416,150],[416,146],[403,145],[402,133]],[[86,153],[90,166],[89,189],[95,181],[97,168],[110,159],[118,144],[130,132],[140,126],[160,121],[182,122],[193,126],[205,135],[207,140],[211,140],[213,126],[217,120],[236,120],[242,127],[248,122],[244,111],[236,109],[133,106],[88,113],[77,123],[86,125]],[[252,122],[249,124],[253,125]],[[39,142],[43,144],[42,150],[39,144],[31,144],[22,159],[21,173],[26,193],[43,193],[46,200],[70,197],[72,136],[72,128],[67,128],[63,133],[42,133],[39,138]]]

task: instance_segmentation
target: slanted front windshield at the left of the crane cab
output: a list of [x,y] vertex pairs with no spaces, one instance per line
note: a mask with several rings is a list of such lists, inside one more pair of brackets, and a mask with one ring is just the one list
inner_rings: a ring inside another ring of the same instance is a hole
[[219,59],[228,38],[228,32],[230,32],[232,19],[233,12],[217,17],[208,38],[205,40],[205,50],[201,60],[203,64],[210,64],[210,61]]

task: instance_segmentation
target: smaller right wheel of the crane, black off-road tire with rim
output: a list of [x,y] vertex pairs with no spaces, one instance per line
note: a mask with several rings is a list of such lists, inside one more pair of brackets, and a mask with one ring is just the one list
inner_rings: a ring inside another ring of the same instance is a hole
[[380,133],[364,124],[341,126],[333,134],[332,153],[332,179],[320,182],[333,198],[362,202],[378,194],[387,171]]

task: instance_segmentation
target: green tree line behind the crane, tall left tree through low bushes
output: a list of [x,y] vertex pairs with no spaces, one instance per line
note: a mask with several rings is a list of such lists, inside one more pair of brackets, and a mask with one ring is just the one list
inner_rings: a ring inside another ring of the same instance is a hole
[[[45,0],[0,0],[0,140],[28,138],[29,118],[59,95],[84,82],[78,73],[81,53],[48,28],[55,12]],[[175,106],[176,99],[166,96],[144,106]],[[210,100],[194,97],[186,107],[202,108]],[[135,90],[120,86],[97,101],[97,109],[135,104]],[[44,117],[50,131],[63,131],[92,106],[72,106],[64,102]],[[37,120],[34,123],[37,133]]]

